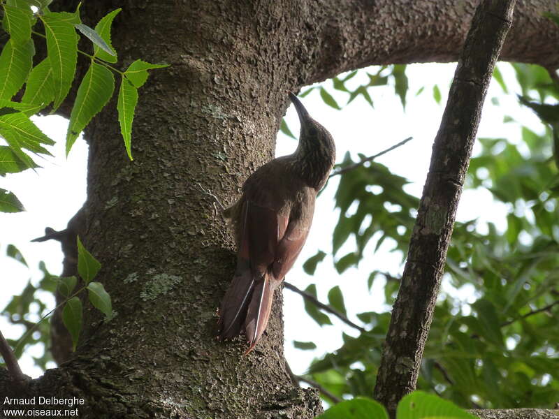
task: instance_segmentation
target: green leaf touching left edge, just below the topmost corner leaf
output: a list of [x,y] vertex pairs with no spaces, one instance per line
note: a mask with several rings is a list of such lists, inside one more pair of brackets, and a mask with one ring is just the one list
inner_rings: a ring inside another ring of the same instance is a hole
[[33,41],[14,45],[10,39],[0,54],[0,99],[10,99],[22,87],[35,54]]

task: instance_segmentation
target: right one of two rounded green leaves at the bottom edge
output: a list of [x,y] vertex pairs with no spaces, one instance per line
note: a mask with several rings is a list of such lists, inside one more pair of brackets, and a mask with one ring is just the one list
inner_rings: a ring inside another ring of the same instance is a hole
[[476,419],[456,404],[422,391],[414,391],[402,398],[396,408],[396,417],[398,419]]

